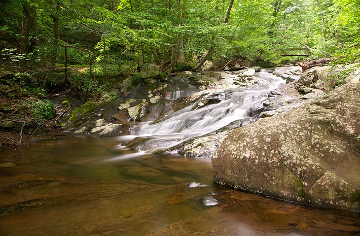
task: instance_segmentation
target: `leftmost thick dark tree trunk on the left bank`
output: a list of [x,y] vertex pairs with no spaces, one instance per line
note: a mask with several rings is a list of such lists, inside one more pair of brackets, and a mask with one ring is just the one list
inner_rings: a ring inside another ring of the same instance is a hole
[[[20,38],[20,54],[25,56],[28,53],[29,48],[29,28],[30,28],[30,4],[28,1],[23,5],[23,19],[22,19],[22,28],[21,28],[21,38]],[[20,59],[19,66],[20,68],[27,67],[26,58]]]

